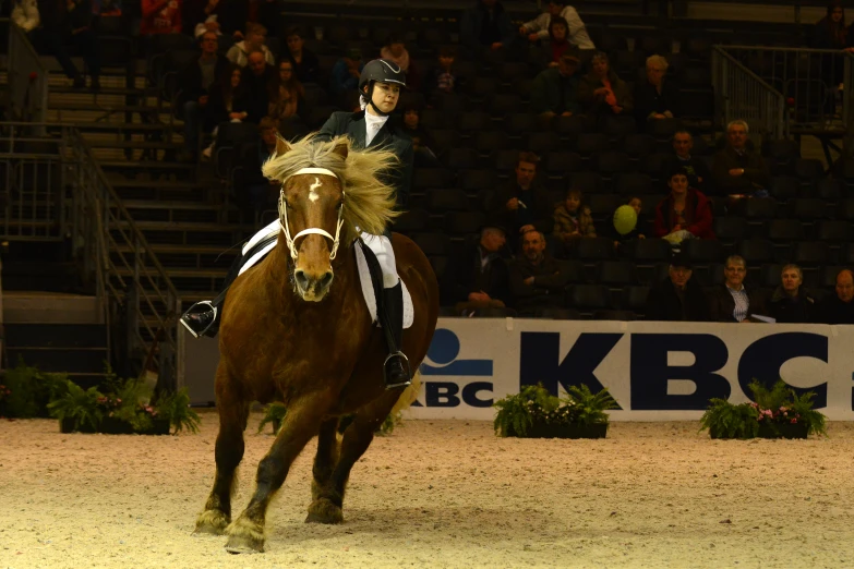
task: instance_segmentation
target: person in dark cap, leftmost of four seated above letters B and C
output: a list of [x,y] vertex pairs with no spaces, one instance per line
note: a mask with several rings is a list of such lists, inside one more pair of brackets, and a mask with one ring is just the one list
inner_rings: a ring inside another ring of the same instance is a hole
[[649,291],[646,318],[657,322],[709,322],[709,306],[702,287],[693,280],[691,265],[675,254],[667,278]]

